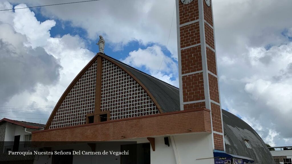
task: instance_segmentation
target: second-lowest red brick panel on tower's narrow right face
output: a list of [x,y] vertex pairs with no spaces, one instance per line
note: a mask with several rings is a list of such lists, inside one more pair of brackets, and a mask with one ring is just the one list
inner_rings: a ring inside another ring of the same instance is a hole
[[222,132],[220,106],[211,102],[213,131]]

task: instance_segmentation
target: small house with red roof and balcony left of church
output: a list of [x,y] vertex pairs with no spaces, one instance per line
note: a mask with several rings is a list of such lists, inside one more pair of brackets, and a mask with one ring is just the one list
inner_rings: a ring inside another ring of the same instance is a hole
[[43,124],[3,118],[0,120],[0,163],[33,163],[34,155],[8,155],[8,151],[33,151],[32,132],[44,129]]

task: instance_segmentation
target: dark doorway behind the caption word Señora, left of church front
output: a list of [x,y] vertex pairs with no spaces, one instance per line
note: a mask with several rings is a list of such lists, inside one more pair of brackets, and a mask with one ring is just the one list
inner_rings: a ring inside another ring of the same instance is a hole
[[58,152],[71,152],[71,155],[65,155],[65,154],[53,154],[52,157],[52,164],[72,164],[73,163],[73,149],[67,149],[67,150],[58,150]]

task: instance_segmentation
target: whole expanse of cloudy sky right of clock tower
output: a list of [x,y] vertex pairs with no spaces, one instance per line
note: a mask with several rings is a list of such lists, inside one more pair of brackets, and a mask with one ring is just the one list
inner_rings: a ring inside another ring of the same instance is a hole
[[213,1],[223,108],[277,146],[292,144],[284,140],[292,138],[287,117],[292,114],[291,5],[288,0]]

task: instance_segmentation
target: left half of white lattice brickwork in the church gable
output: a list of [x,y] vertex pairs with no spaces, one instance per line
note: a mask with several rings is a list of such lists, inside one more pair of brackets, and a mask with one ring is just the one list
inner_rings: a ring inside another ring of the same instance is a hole
[[50,129],[85,124],[86,114],[94,113],[96,68],[95,61],[73,86],[56,112]]

